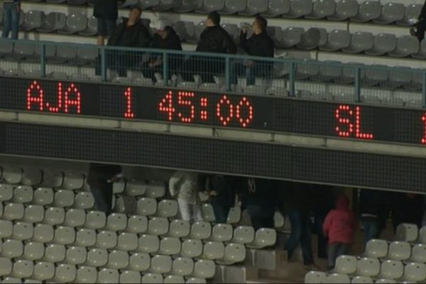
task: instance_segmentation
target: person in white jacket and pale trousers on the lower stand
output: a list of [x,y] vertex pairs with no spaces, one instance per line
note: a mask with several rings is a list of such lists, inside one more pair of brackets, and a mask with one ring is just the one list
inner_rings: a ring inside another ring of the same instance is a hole
[[169,181],[170,195],[178,199],[180,214],[185,221],[202,221],[197,173],[178,170]]

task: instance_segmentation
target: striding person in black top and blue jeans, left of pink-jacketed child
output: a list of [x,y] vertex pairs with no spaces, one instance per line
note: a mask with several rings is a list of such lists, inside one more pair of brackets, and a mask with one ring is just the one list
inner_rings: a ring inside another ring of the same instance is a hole
[[306,269],[317,269],[312,256],[311,244],[311,221],[310,209],[310,188],[307,185],[293,183],[290,184],[285,197],[285,208],[290,219],[291,233],[285,244],[288,251],[288,258],[293,256],[295,249],[300,244],[302,247],[303,264]]

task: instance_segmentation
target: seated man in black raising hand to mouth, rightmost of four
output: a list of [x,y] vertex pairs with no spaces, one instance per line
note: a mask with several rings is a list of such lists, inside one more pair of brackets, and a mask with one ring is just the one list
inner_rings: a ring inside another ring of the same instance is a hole
[[[241,29],[239,36],[239,46],[251,56],[259,56],[266,58],[274,57],[274,43],[271,37],[266,33],[268,21],[266,18],[257,16],[253,22],[253,35],[247,39],[248,26]],[[231,82],[236,84],[236,75],[246,75],[247,85],[255,83],[256,76],[268,77],[271,72],[272,62],[258,60],[244,60],[244,62],[236,62],[234,70],[231,72]]]

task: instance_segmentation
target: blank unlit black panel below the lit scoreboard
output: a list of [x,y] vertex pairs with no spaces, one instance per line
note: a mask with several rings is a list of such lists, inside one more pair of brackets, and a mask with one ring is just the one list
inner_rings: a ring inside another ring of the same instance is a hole
[[0,123],[0,153],[426,192],[426,160],[171,134]]

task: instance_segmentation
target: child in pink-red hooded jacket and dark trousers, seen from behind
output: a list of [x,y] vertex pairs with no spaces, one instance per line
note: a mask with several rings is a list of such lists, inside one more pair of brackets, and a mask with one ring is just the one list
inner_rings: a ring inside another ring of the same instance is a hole
[[327,214],[322,229],[329,238],[329,269],[334,268],[336,259],[348,253],[354,243],[356,219],[354,212],[349,209],[349,199],[340,195],[336,201],[336,209]]

